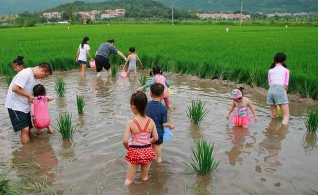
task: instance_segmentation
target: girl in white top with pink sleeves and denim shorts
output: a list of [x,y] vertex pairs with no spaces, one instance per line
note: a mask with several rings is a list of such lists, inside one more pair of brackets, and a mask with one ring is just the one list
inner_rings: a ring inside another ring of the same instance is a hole
[[267,104],[271,105],[272,118],[277,117],[277,106],[280,106],[283,115],[283,124],[289,121],[289,101],[287,90],[289,84],[289,70],[285,64],[285,53],[277,53],[274,62],[268,71],[268,84],[270,86],[267,94]]

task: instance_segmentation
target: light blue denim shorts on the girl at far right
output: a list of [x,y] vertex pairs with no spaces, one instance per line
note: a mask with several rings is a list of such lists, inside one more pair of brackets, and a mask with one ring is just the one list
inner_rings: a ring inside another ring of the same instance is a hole
[[267,104],[281,105],[288,104],[287,92],[284,85],[271,85],[267,94]]

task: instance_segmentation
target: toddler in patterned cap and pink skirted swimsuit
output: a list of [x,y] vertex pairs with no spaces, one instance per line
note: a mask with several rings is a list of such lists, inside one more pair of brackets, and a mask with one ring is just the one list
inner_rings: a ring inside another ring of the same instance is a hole
[[255,121],[258,121],[258,117],[256,115],[256,111],[252,102],[248,98],[243,97],[242,90],[243,88],[240,87],[239,89],[234,89],[231,92],[230,98],[233,100],[233,104],[231,108],[229,109],[226,119],[228,120],[230,118],[230,114],[233,112],[233,110],[236,107],[236,111],[232,119],[234,125],[247,128],[248,124],[251,121],[250,116],[248,114],[248,108],[253,113]]

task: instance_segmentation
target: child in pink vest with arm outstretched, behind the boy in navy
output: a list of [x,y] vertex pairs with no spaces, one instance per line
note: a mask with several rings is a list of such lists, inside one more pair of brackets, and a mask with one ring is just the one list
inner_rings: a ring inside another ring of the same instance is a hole
[[[169,82],[166,80],[164,76],[162,76],[162,71],[160,67],[155,66],[154,68],[151,69],[150,71],[150,76],[153,77],[149,82],[146,83],[143,87],[139,88],[138,90],[142,90],[146,87],[150,87],[155,83],[160,83],[164,86],[164,91],[163,91],[163,97],[161,98],[164,99],[164,103],[166,104],[166,107],[169,109],[173,109],[173,107],[170,105],[169,102],[169,92],[168,88],[170,87]],[[161,101],[160,100],[160,101]]]

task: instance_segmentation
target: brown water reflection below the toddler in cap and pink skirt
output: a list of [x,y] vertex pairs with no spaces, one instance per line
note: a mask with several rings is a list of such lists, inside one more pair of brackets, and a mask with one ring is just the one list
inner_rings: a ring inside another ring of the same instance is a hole
[[[228,139],[233,147],[230,151],[226,151],[225,154],[228,156],[229,164],[235,166],[236,163],[242,165],[243,159],[240,156],[241,154],[246,154],[247,156],[251,154],[246,149],[253,148],[256,143],[255,135],[250,135],[249,130],[247,128],[242,128],[238,126],[233,126],[231,129],[227,128],[226,134],[228,135]],[[246,142],[246,138],[251,138],[251,142]]]

